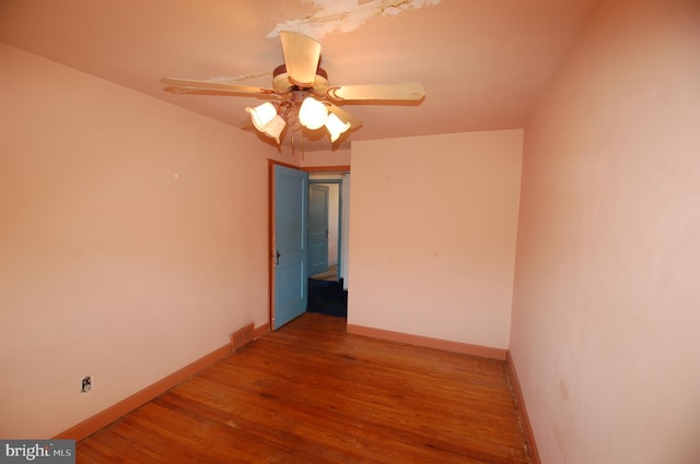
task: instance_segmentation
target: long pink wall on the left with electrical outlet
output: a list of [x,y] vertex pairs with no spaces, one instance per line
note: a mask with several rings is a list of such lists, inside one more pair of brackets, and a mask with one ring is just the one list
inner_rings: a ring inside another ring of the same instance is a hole
[[267,323],[275,151],[4,45],[0,82],[0,437],[54,436]]

